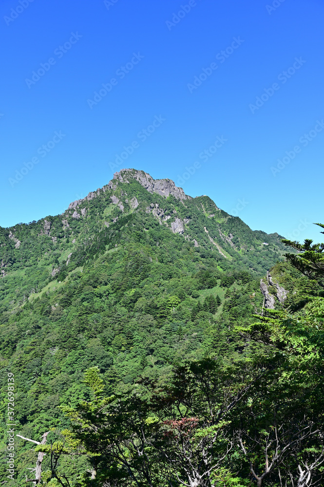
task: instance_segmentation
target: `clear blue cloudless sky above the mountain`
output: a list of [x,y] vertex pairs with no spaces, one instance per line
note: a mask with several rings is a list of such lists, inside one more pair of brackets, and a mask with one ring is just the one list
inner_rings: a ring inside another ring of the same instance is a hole
[[252,229],[321,241],[323,0],[2,0],[0,11],[1,226],[61,213],[135,168]]

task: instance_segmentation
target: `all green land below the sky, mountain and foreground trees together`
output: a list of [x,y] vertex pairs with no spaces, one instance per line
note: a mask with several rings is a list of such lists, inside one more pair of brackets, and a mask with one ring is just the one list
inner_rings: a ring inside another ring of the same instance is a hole
[[1,485],[323,486],[323,323],[324,244],[143,171],[0,227]]

